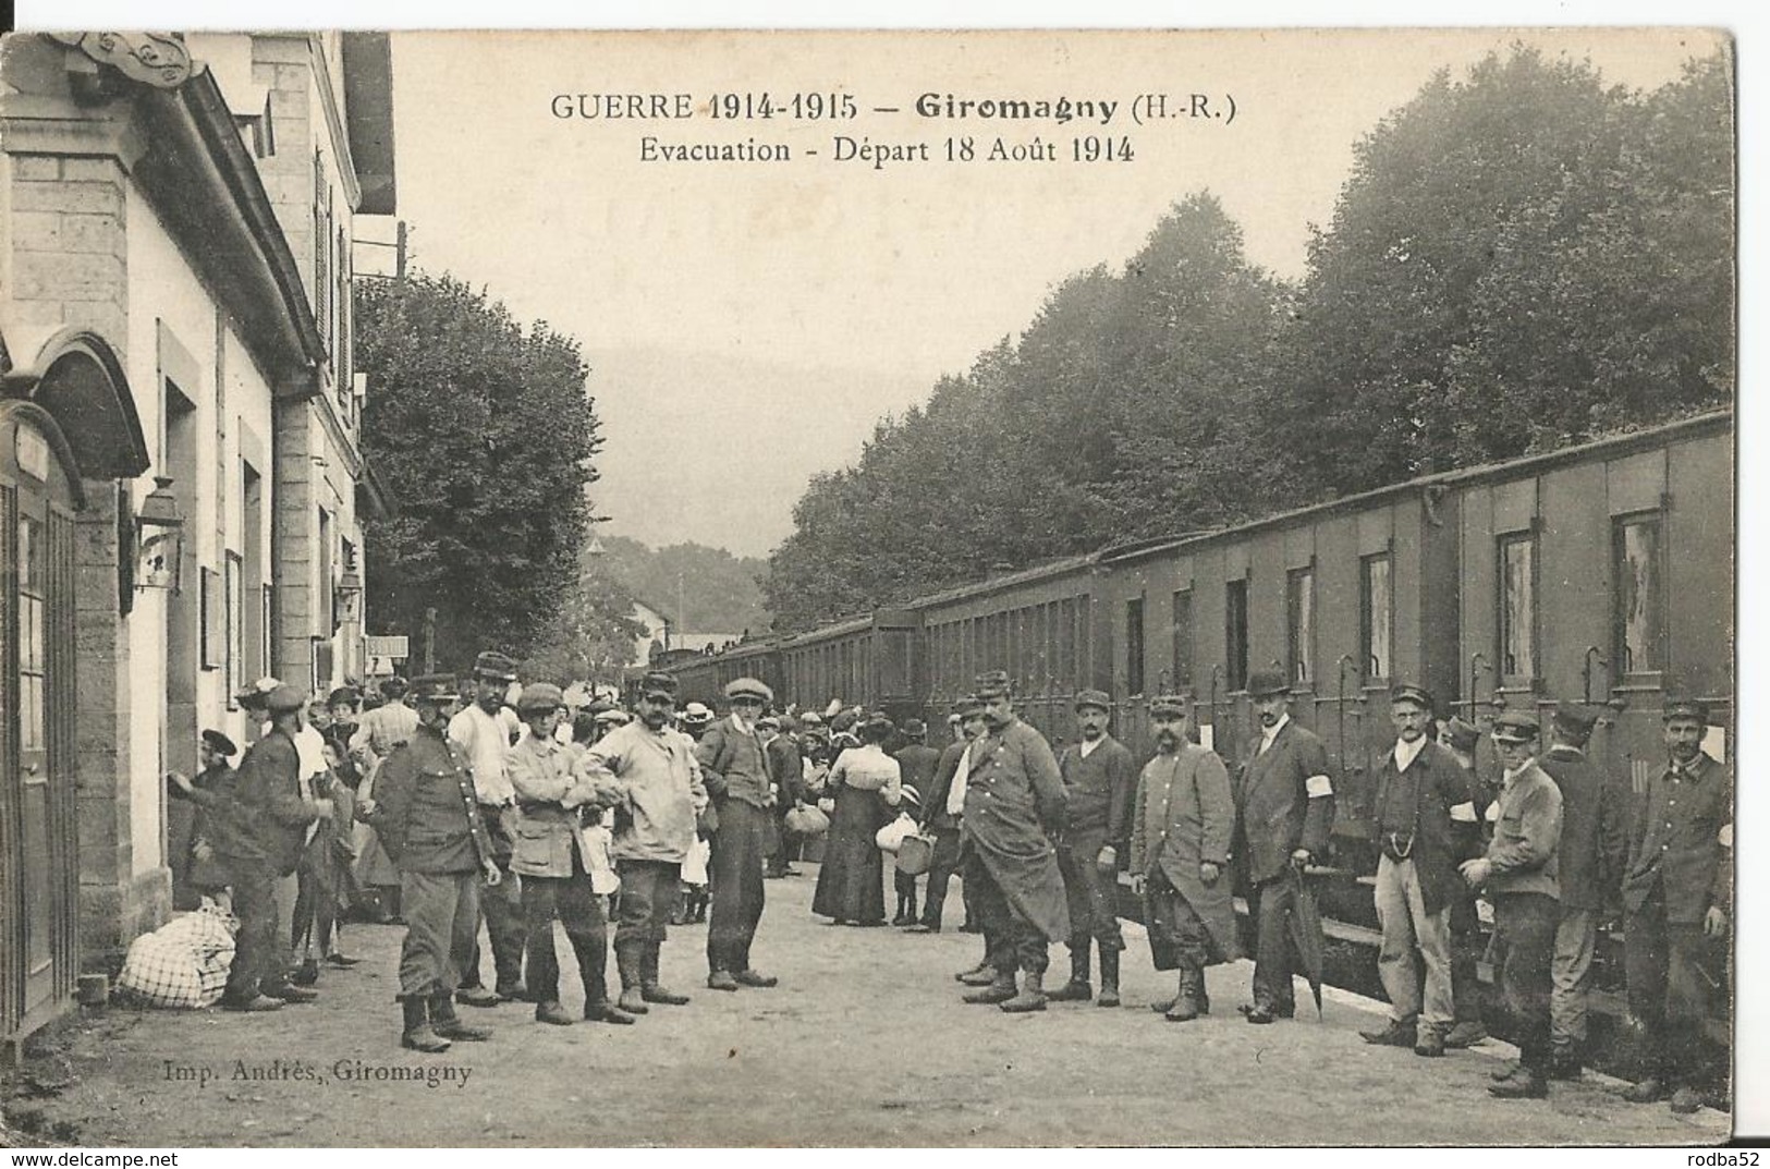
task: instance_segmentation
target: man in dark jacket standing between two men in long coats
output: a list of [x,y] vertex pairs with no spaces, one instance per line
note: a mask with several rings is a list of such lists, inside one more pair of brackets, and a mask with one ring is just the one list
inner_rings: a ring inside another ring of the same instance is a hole
[[1081,740],[1062,749],[1057,769],[1064,776],[1069,820],[1057,841],[1057,868],[1064,875],[1069,903],[1069,981],[1050,994],[1053,1003],[1087,1001],[1089,944],[1101,951],[1099,1006],[1119,1006],[1119,857],[1131,832],[1131,794],[1136,763],[1117,739],[1106,733],[1112,698],[1106,691],[1076,694],[1076,724]]

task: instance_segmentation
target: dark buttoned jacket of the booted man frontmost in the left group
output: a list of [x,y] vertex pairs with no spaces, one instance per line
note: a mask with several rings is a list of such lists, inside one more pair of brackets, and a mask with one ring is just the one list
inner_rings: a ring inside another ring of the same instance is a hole
[[467,753],[423,724],[375,774],[368,824],[402,873],[473,873],[492,857]]

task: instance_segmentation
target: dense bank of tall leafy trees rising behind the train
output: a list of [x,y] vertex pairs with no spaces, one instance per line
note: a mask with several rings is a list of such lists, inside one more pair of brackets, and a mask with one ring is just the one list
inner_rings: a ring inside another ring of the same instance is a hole
[[1356,145],[1297,285],[1188,195],[812,480],[777,625],[1729,402],[1731,81],[1441,73]]

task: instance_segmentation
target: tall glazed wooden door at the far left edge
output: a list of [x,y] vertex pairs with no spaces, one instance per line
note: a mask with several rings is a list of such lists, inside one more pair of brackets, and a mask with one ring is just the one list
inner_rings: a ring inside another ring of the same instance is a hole
[[[48,423],[48,420],[42,420]],[[48,423],[53,427],[53,423]],[[0,414],[0,1034],[74,978],[73,485],[44,427]]]

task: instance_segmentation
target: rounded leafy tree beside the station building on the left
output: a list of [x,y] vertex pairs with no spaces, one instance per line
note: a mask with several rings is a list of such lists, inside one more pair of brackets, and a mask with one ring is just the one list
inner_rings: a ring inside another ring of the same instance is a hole
[[524,333],[448,275],[361,282],[356,298],[363,452],[400,501],[368,526],[368,608],[414,638],[434,608],[439,668],[485,648],[522,659],[559,636],[577,583],[602,445],[589,368],[575,340]]

